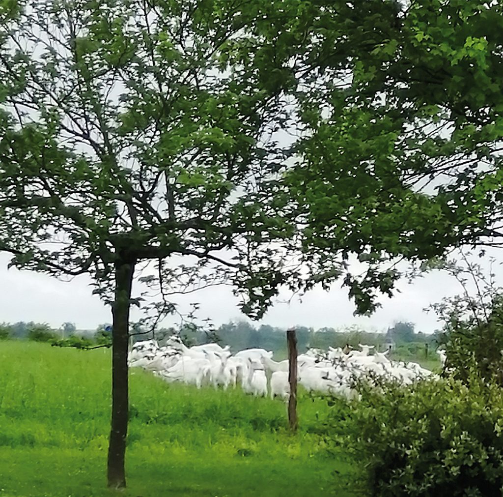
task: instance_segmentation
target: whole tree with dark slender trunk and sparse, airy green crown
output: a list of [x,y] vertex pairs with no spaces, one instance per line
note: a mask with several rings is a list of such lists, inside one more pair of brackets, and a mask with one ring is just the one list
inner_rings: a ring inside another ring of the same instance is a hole
[[309,19],[276,2],[0,5],[0,249],[17,267],[89,273],[112,307],[111,487],[126,484],[135,277],[162,294],[143,306],[153,325],[173,293],[221,282],[260,316],[284,281],[271,242],[294,227],[268,136]]

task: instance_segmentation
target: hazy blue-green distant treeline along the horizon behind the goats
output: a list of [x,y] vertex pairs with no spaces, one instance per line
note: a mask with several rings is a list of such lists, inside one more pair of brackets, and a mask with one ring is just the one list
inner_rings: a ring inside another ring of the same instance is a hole
[[[14,324],[0,324],[1,338],[28,338],[39,341],[49,341],[49,338],[65,338],[85,335],[90,340],[103,339],[103,335],[108,335],[107,325],[102,324],[96,331],[78,331],[73,323],[67,322],[55,330],[46,323],[18,322]],[[133,332],[141,332],[135,328]],[[153,335],[151,332],[133,335],[133,340],[144,340],[155,338],[160,342],[172,334],[180,334],[187,345],[218,341],[221,344],[229,345],[231,350],[237,351],[250,347],[261,347],[275,352],[286,349],[286,328],[278,328],[270,325],[254,326],[247,321],[236,321],[222,324],[217,329],[208,331],[207,329],[184,325],[182,328],[161,328]],[[305,351],[309,347],[327,349],[331,347],[344,347],[346,344],[358,348],[359,343],[374,344],[381,350],[387,348],[389,344],[394,346],[421,345],[428,343],[436,347],[438,334],[416,333],[414,324],[409,322],[396,322],[388,328],[386,333],[373,333],[360,330],[357,327],[349,327],[345,330],[334,328],[320,328],[314,330],[306,326],[296,327],[298,350]],[[44,340],[46,338],[46,340]],[[71,343],[68,343],[71,344]]]

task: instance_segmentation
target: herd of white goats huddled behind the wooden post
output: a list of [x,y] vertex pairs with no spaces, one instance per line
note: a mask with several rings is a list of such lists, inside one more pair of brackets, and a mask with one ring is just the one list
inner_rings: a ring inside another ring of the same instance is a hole
[[[370,354],[373,345],[344,353],[341,348],[327,351],[309,349],[297,357],[298,382],[309,392],[343,395],[352,398],[355,378],[362,375],[386,376],[404,384],[425,379],[432,374],[417,363],[390,361],[386,352]],[[201,388],[241,386],[256,395],[287,399],[288,361],[276,362],[273,352],[248,348],[235,354],[216,343],[187,347],[178,336],[160,347],[155,340],[136,342],[129,353],[130,367],[141,367],[167,382],[184,382]]]

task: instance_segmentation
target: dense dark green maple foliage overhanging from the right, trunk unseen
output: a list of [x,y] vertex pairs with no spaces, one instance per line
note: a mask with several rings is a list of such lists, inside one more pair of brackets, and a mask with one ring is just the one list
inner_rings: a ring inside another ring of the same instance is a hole
[[361,274],[344,278],[366,312],[392,295],[398,260],[503,244],[503,6],[333,4],[325,84],[299,96],[307,132],[287,180],[313,281],[358,254]]

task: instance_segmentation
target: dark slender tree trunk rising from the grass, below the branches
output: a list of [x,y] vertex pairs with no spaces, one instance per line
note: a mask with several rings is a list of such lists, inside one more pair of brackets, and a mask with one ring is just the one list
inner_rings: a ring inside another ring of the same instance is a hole
[[108,445],[108,486],[124,488],[124,457],[129,416],[127,354],[129,307],[134,261],[115,263],[115,301],[112,308],[112,422]]

